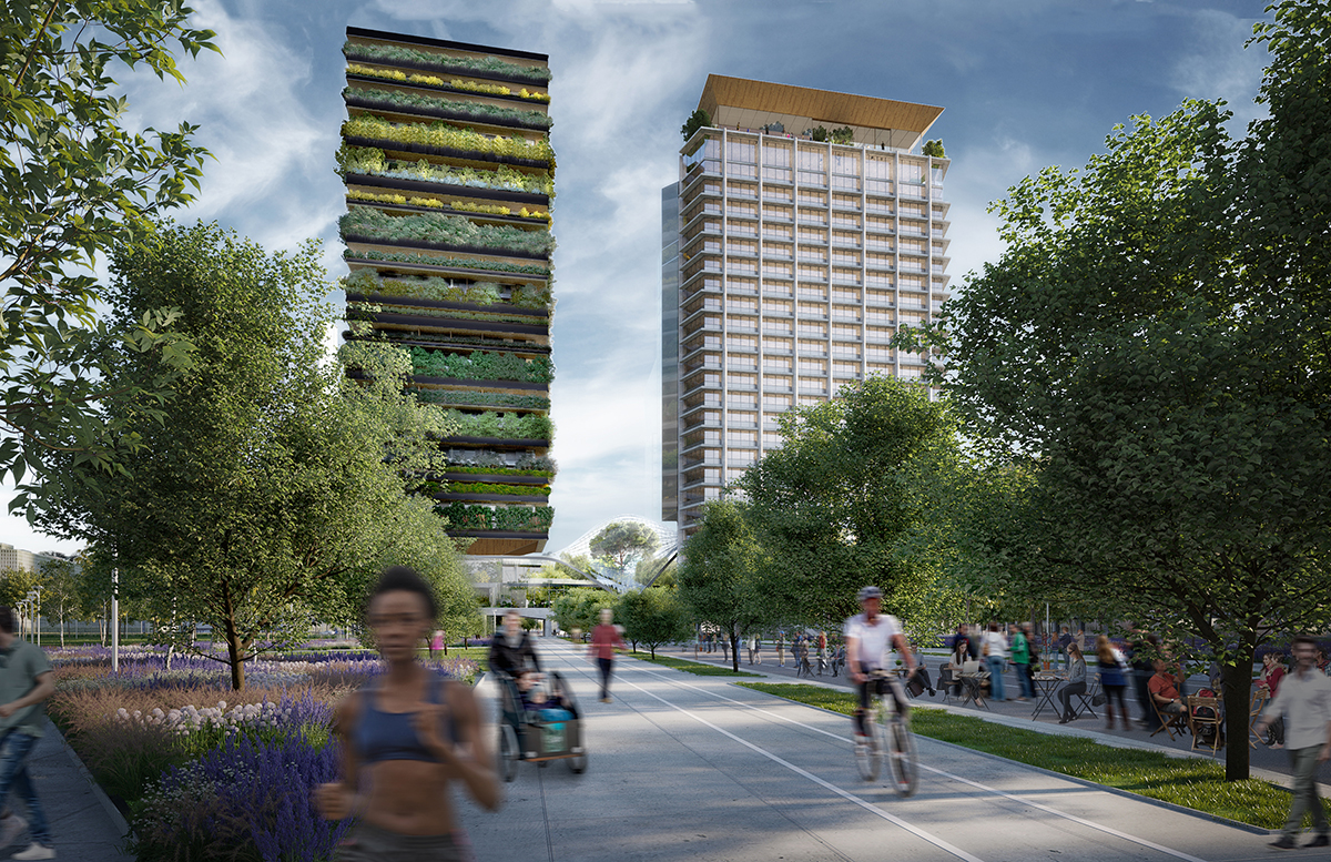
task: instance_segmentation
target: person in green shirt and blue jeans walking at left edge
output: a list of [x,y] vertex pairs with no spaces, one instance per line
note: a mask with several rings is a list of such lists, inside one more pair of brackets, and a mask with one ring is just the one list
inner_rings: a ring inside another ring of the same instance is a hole
[[0,806],[15,790],[28,806],[25,821],[5,809],[0,817],[0,849],[8,847],[27,827],[32,843],[13,859],[53,859],[55,847],[47,817],[28,776],[28,753],[41,738],[44,702],[56,690],[51,660],[40,646],[13,633],[13,611],[0,608]]

